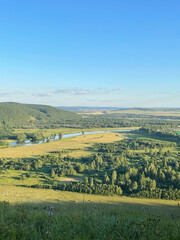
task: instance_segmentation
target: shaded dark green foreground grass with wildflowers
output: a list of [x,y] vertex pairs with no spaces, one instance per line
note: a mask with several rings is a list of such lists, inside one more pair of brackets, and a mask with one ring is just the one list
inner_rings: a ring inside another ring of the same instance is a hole
[[1,240],[178,240],[180,220],[104,204],[0,203]]

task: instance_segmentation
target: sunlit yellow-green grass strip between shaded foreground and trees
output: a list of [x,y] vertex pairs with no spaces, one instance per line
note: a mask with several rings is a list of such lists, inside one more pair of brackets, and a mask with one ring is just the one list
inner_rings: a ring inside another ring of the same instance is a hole
[[118,205],[120,208],[151,212],[156,215],[180,217],[178,202],[161,199],[141,199],[118,196],[99,196],[74,192],[55,191],[49,189],[33,189],[16,186],[0,186],[0,201],[15,203],[101,203]]

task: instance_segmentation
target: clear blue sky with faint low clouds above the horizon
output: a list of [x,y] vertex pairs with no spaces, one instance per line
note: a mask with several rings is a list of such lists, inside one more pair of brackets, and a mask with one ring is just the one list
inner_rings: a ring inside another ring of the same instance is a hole
[[0,101],[180,107],[180,1],[0,0]]

